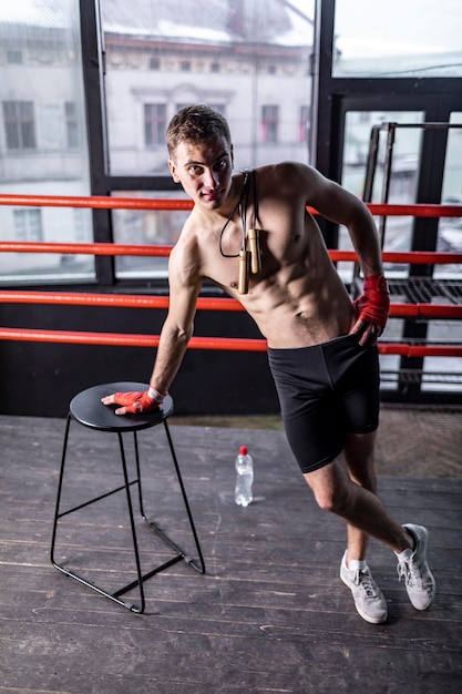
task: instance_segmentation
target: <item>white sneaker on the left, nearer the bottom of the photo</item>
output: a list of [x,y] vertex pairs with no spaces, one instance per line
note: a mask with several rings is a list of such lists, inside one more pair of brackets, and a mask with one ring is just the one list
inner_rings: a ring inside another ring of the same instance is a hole
[[366,622],[380,624],[388,618],[387,601],[365,561],[351,560],[347,567],[347,552],[340,565],[340,579],[351,590],[355,606]]

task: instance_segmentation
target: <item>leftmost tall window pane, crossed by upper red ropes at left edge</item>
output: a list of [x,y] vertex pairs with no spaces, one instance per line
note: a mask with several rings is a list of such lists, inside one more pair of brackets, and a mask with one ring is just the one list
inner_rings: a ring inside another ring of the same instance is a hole
[[[0,3],[0,188],[89,195],[79,0]],[[90,210],[0,205],[0,238],[91,243]],[[92,256],[0,254],[2,282],[94,277]]]

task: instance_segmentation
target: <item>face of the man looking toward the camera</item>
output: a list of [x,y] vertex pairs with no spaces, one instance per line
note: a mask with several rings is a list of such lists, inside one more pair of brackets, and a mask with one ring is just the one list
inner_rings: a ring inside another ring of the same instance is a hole
[[223,136],[204,143],[181,142],[168,166],[192,200],[206,210],[225,203],[232,184],[233,145]]

